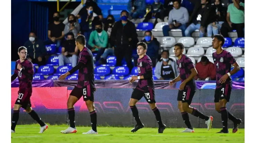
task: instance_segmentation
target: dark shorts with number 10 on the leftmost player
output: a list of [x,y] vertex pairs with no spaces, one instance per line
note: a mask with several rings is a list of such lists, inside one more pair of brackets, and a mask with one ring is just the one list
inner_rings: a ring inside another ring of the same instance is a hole
[[18,91],[18,98],[15,104],[22,105],[21,107],[27,109],[31,107],[30,97],[32,95],[32,88],[23,88]]

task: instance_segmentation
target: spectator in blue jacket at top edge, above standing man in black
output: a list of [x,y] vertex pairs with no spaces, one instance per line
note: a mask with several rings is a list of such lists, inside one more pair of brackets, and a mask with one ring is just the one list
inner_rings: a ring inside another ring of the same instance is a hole
[[129,0],[127,9],[132,19],[143,18],[146,14],[145,0]]

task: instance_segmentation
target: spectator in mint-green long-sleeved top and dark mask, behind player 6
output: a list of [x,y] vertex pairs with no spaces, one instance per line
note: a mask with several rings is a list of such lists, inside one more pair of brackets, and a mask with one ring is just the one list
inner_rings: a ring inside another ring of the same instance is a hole
[[108,45],[108,33],[103,30],[101,21],[95,22],[95,30],[91,33],[88,44],[92,52],[98,51],[94,59],[97,62]]

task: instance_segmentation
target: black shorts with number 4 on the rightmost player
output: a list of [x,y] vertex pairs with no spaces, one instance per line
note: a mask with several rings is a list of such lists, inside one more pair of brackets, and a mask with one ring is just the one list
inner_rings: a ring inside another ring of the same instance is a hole
[[220,88],[215,89],[214,102],[226,99],[229,102],[232,87],[230,84],[222,84]]

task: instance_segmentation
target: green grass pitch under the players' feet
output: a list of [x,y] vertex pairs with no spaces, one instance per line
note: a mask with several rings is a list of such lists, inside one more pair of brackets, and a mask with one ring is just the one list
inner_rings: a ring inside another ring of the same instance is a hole
[[194,129],[194,133],[180,133],[182,128],[167,128],[163,134],[157,128],[142,128],[132,133],[132,128],[98,127],[99,134],[82,134],[91,127],[76,127],[77,133],[62,134],[67,125],[49,125],[39,134],[39,125],[17,125],[16,133],[11,133],[12,143],[227,143],[245,142],[245,130],[229,134],[216,134],[220,129]]

